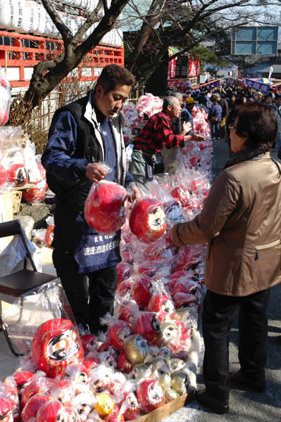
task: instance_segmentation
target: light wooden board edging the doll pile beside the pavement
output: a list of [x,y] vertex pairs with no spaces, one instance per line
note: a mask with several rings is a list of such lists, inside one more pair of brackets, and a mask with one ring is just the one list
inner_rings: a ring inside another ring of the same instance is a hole
[[161,419],[166,418],[170,414],[173,414],[174,411],[177,411],[178,409],[181,409],[185,406],[185,404],[188,404],[192,402],[194,399],[194,392],[188,392],[187,394],[184,394],[180,397],[177,397],[177,399],[173,399],[170,402],[164,404],[163,406],[159,407],[158,409],[151,411],[149,414],[146,414],[144,416],[140,416],[137,419],[134,419],[131,422],[158,422],[161,421]]

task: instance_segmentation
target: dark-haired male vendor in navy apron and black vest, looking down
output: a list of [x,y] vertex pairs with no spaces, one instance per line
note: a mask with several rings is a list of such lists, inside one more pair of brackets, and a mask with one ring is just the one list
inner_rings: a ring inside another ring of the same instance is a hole
[[[101,72],[94,91],[56,111],[42,155],[47,183],[56,193],[53,261],[78,326],[92,333],[99,318],[112,312],[116,264],[120,262],[120,231],[96,233],[84,216],[93,182],[102,179],[125,185],[123,117],[118,112],[135,84],[133,75],[118,65]],[[106,174],[101,162],[112,172]],[[133,199],[138,191],[133,187]]]

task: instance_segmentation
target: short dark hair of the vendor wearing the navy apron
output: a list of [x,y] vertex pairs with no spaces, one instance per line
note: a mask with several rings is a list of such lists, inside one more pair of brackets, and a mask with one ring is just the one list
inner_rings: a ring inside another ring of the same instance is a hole
[[128,85],[132,87],[135,85],[135,77],[126,68],[122,68],[119,65],[107,65],[101,71],[99,79],[96,81],[96,85],[101,84],[104,88],[105,94],[112,91],[118,85]]

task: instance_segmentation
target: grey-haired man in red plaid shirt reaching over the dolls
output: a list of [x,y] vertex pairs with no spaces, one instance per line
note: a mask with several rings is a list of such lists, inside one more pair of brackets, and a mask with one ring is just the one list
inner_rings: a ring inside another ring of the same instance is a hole
[[168,96],[163,100],[163,109],[147,120],[144,128],[134,141],[135,147],[132,152],[129,172],[133,174],[137,187],[144,193],[151,190],[155,153],[160,152],[163,146],[184,148],[187,141],[203,141],[203,136],[196,134],[187,135],[192,128],[190,122],[182,123],[182,130],[174,134],[171,129],[171,119],[180,117],[180,102],[174,96]]

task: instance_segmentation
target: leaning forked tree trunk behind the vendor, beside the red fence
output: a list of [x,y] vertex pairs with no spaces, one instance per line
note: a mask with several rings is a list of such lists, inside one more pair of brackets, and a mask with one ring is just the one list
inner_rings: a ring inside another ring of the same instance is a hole
[[49,13],[59,32],[61,32],[64,51],[53,60],[41,61],[35,65],[30,80],[30,87],[23,98],[16,98],[11,105],[10,124],[25,126],[27,120],[30,119],[33,108],[39,106],[59,82],[81,63],[87,53],[99,44],[102,37],[113,28],[118,16],[128,2],[129,0],[113,0],[110,8],[104,6],[104,17],[99,18],[99,25],[85,41],[80,43],[85,32],[96,22],[96,11],[89,15],[84,25],[73,36],[68,28],[65,27],[61,18],[59,18],[51,1],[43,0],[47,13]]

